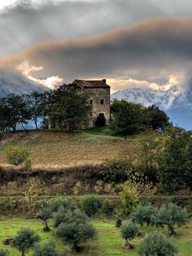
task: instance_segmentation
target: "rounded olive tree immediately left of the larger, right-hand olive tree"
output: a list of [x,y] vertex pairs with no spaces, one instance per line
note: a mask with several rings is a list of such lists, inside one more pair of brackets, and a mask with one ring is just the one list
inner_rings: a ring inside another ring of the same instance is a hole
[[154,224],[154,219],[156,215],[156,211],[154,207],[150,205],[139,204],[131,213],[132,221],[134,223],[140,224]]

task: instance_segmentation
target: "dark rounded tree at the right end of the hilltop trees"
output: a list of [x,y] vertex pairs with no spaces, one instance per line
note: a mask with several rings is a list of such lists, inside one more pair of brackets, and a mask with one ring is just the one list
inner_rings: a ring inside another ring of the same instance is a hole
[[154,105],[145,108],[143,125],[154,130],[164,131],[169,124],[166,113]]

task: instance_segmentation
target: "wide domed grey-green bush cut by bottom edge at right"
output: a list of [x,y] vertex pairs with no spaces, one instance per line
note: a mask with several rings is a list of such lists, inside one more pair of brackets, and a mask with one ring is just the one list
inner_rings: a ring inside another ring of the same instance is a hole
[[138,249],[140,256],[174,256],[176,253],[177,247],[172,240],[158,231],[152,231],[146,235]]

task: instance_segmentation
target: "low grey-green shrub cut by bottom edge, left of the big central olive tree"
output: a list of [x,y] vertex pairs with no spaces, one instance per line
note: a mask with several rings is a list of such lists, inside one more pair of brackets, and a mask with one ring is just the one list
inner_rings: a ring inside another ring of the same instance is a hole
[[67,256],[67,250],[58,252],[54,241],[46,241],[43,245],[35,245],[33,256]]

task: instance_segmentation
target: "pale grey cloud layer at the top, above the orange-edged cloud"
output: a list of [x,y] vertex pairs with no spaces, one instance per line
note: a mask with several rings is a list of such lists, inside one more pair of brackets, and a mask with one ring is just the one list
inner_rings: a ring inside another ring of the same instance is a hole
[[1,12],[0,55],[41,40],[93,36],[138,20],[189,14],[189,0],[20,0]]

